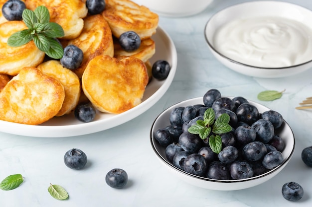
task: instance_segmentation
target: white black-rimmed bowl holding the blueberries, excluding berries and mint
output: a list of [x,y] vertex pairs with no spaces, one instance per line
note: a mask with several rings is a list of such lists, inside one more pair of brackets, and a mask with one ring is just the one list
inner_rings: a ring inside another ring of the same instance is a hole
[[[226,96],[226,97],[233,98],[231,96]],[[261,105],[259,103],[256,103],[250,100],[248,100],[248,102],[256,106],[259,113],[263,113],[265,111],[270,110],[266,106]],[[247,178],[247,179],[242,179],[242,180],[215,180],[215,179],[209,179],[209,178],[192,175],[190,173],[187,173],[183,170],[178,169],[166,159],[165,148],[160,146],[159,143],[155,140],[154,132],[159,128],[163,128],[163,127],[170,125],[170,122],[169,122],[170,113],[175,107],[178,107],[178,106],[185,107],[185,106],[195,105],[195,104],[203,104],[203,98],[202,97],[192,98],[192,99],[188,99],[188,100],[185,100],[185,101],[182,101],[182,102],[179,102],[177,104],[170,106],[169,108],[167,108],[166,110],[164,110],[163,112],[159,114],[159,116],[156,118],[151,128],[150,141],[152,144],[152,148],[158,160],[160,161],[160,163],[169,172],[171,172],[174,177],[177,177],[191,185],[194,185],[200,188],[210,189],[210,190],[218,190],[218,191],[241,190],[241,189],[246,189],[246,188],[257,186],[261,183],[264,183],[270,180],[271,178],[276,176],[279,172],[281,172],[282,169],[287,165],[287,163],[292,158],[294,154],[294,150],[295,150],[295,137],[294,137],[292,129],[284,120],[283,125],[276,132],[281,138],[283,138],[284,143],[285,143],[285,148],[282,152],[284,161],[281,165],[277,166],[276,168],[272,170],[269,170],[268,172],[264,174],[251,177],[251,178]]]

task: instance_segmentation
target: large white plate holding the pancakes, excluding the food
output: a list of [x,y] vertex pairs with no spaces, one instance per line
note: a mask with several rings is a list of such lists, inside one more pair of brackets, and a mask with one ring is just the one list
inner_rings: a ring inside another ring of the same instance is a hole
[[153,64],[157,60],[166,60],[170,64],[171,70],[165,80],[152,79],[146,87],[142,103],[138,106],[117,115],[99,112],[95,120],[89,123],[78,121],[73,113],[62,117],[54,117],[41,125],[35,126],[0,120],[0,132],[29,137],[71,137],[107,130],[141,115],[151,108],[167,91],[177,66],[176,49],[169,35],[158,27],[152,39],[156,43],[156,53],[151,59],[151,63]]

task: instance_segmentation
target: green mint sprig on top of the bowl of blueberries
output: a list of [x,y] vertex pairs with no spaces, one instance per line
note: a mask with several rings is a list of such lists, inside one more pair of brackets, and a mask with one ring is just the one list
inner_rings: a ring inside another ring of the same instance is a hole
[[222,149],[222,141],[220,134],[228,133],[232,130],[229,125],[230,116],[228,114],[221,114],[215,120],[215,112],[212,108],[208,108],[203,116],[203,120],[196,121],[196,124],[188,128],[191,134],[199,135],[200,138],[209,137],[209,146],[215,153],[219,153]]

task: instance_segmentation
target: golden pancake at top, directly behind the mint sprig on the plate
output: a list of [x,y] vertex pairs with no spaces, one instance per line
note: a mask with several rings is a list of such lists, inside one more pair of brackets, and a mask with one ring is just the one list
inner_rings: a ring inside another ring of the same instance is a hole
[[63,39],[78,37],[83,28],[83,18],[88,14],[85,0],[25,0],[25,4],[30,10],[46,6],[50,21],[62,26],[65,33]]

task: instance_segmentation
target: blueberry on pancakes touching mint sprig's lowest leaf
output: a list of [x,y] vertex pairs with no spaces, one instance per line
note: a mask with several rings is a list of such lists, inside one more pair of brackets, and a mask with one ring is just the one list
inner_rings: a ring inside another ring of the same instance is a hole
[[60,62],[64,68],[77,69],[83,60],[83,52],[75,45],[68,45],[64,48],[64,55]]

